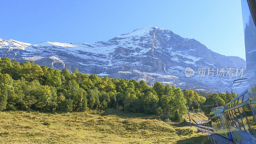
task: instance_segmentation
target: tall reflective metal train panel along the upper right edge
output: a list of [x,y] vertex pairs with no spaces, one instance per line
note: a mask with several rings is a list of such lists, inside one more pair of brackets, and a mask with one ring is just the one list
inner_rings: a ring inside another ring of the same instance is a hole
[[246,54],[246,70],[248,95],[251,100],[253,114],[256,113],[256,2],[255,0],[241,0],[244,43]]

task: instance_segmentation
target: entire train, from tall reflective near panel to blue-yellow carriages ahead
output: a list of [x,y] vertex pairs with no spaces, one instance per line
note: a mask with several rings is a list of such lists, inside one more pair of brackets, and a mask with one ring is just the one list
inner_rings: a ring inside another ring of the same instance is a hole
[[210,117],[215,132],[247,144],[256,143],[256,1],[241,0],[241,4],[248,89]]

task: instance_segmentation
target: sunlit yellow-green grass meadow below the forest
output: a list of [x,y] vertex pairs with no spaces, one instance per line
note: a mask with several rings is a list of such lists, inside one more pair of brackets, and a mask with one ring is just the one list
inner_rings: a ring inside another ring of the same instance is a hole
[[[157,118],[157,119],[155,119]],[[0,143],[209,143],[187,123],[115,109],[72,113],[0,112]]]

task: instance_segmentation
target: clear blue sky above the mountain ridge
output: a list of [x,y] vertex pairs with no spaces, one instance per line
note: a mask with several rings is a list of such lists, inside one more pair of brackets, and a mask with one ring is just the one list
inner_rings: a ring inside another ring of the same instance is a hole
[[2,39],[94,43],[156,26],[245,59],[240,0],[1,0],[0,5]]

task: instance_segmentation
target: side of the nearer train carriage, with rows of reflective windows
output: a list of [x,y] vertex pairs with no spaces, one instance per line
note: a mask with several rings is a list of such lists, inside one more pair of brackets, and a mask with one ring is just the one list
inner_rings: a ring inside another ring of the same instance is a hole
[[256,143],[256,121],[248,90],[224,105],[224,121],[236,143]]

